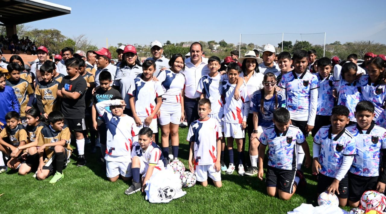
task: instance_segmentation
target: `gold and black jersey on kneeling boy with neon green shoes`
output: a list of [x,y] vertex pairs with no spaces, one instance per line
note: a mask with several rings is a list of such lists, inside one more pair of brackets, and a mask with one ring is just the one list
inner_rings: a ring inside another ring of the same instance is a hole
[[[73,149],[70,147],[70,130],[64,125],[61,131],[53,130],[51,125],[44,126],[37,137],[37,146],[41,146],[43,144],[55,143],[60,140],[65,140],[66,144],[64,144],[64,148],[72,151]],[[44,148],[44,152],[46,152],[47,159],[44,162],[47,162],[49,158],[54,154],[54,147],[46,146]]]

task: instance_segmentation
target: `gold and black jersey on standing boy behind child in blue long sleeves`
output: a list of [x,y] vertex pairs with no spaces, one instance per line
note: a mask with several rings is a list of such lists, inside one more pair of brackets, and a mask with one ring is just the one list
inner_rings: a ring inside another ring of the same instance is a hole
[[32,89],[31,84],[29,84],[27,80],[22,78],[20,78],[19,81],[7,79],[6,85],[14,89],[16,98],[20,103],[20,117],[25,117],[25,108],[27,108],[29,101],[28,95],[33,94],[34,89]]

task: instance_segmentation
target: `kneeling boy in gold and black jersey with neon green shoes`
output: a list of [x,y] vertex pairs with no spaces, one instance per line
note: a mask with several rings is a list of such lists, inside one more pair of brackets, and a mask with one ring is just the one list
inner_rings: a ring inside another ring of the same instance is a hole
[[63,167],[67,166],[71,156],[70,130],[64,125],[64,116],[60,111],[52,111],[48,115],[48,126],[44,126],[37,138],[37,153],[39,167],[37,179],[44,180],[56,171],[50,184],[56,183],[64,177]]

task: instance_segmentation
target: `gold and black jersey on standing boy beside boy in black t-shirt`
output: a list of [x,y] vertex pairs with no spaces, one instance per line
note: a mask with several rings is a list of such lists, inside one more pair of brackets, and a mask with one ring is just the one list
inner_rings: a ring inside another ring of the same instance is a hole
[[[60,108],[59,98],[56,96],[56,91],[58,91],[59,82],[52,81],[51,83],[45,83],[40,81],[35,89],[36,102],[39,107],[39,110],[43,113],[51,113],[52,111],[57,111]],[[41,107],[39,106],[41,105]],[[41,110],[43,108],[44,111]]]

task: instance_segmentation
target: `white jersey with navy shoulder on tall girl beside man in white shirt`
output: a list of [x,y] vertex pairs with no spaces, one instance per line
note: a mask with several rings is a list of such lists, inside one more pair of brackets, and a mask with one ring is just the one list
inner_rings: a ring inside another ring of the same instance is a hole
[[162,103],[181,103],[181,92],[185,88],[185,76],[170,70],[161,71],[157,76],[158,81],[164,89]]

